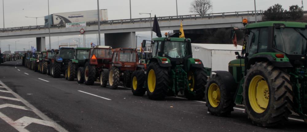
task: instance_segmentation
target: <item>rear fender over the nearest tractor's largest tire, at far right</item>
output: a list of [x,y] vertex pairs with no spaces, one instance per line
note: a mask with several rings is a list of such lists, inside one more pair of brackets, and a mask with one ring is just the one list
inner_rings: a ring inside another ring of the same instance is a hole
[[257,55],[257,56],[251,57],[248,60],[246,69],[249,69],[252,64],[255,64],[256,62],[261,62],[261,61],[270,62],[275,67],[280,67],[280,68],[290,68],[290,67],[293,67],[292,64],[289,61],[276,61],[276,57],[273,57],[273,56],[267,55],[267,54],[262,54],[262,55]]

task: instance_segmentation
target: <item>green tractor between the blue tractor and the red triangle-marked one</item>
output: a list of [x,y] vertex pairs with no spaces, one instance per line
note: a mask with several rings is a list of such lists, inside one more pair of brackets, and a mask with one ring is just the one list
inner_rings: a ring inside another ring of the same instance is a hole
[[68,62],[68,67],[66,69],[66,79],[68,81],[73,81],[76,78],[76,73],[78,71],[79,67],[84,67],[85,60],[90,55],[90,49],[91,48],[76,48],[76,54],[74,56],[74,59],[71,59]]

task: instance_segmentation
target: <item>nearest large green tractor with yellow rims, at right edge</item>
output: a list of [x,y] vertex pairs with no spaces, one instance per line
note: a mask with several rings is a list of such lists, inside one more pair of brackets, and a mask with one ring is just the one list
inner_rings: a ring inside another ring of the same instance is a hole
[[[276,126],[294,111],[307,119],[307,23],[266,21],[246,25],[243,49],[229,71],[213,71],[208,111],[225,116],[244,104],[252,123]],[[235,36],[232,30],[231,36]]]

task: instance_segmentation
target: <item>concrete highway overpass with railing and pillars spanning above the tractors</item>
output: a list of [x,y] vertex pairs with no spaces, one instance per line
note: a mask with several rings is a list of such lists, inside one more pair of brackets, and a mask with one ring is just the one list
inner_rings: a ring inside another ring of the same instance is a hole
[[[161,31],[178,30],[180,22],[184,29],[209,29],[209,28],[227,28],[227,27],[243,27],[242,19],[247,18],[249,22],[262,21],[262,10],[241,11],[227,13],[212,13],[200,15],[184,15],[184,16],[168,16],[157,17]],[[105,36],[105,45],[118,47],[135,46],[135,32],[150,31],[150,21],[152,18],[135,18],[108,20],[100,22],[101,33]],[[87,22],[86,27],[82,27],[84,34],[97,34],[98,21]],[[50,36],[68,36],[80,35],[79,28],[66,28],[65,25],[53,25],[50,27]],[[0,40],[17,39],[17,38],[33,38],[36,37],[37,50],[45,49],[45,37],[49,36],[48,25],[14,27],[0,29]],[[155,36],[155,34],[153,34]]]

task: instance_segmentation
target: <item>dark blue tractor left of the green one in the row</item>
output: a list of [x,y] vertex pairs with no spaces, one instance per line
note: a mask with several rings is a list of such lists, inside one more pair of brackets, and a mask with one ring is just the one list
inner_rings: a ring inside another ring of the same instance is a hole
[[[55,60],[52,63],[51,74],[54,78],[60,77],[61,74],[66,74],[68,62],[74,58],[74,48],[61,47],[59,52],[55,56]],[[67,77],[67,76],[66,76]]]

